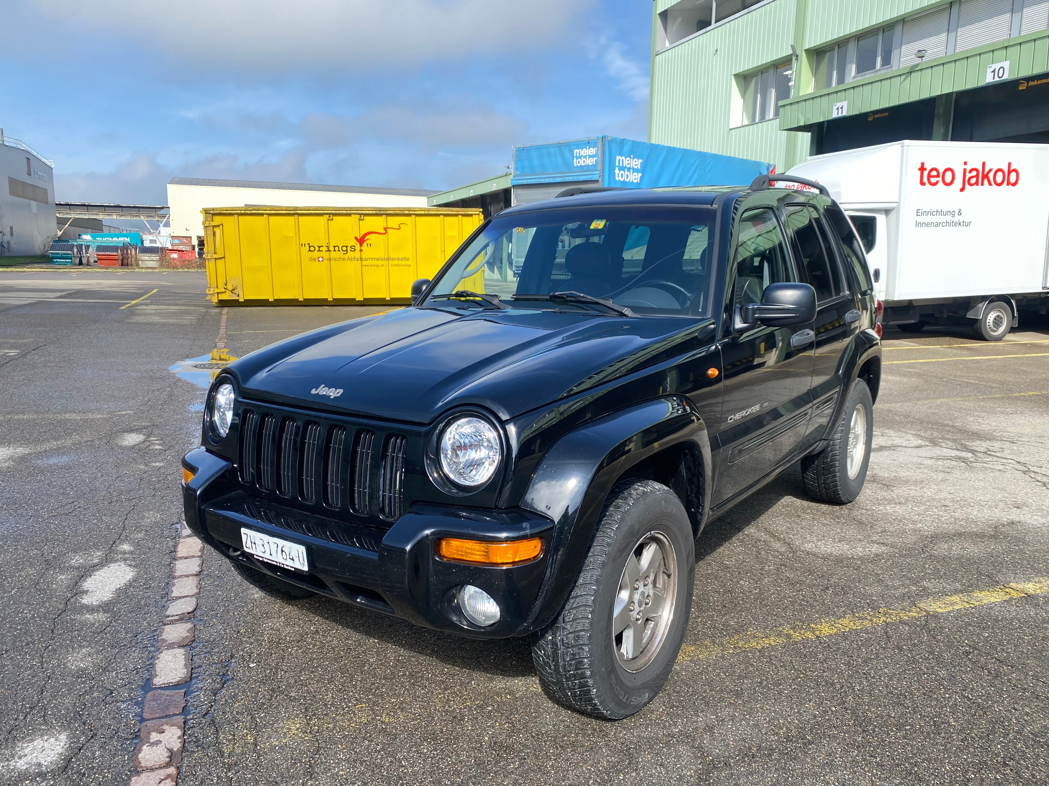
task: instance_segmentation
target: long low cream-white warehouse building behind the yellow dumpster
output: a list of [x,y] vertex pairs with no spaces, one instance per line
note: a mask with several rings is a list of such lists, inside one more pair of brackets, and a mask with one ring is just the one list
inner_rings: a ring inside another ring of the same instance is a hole
[[251,204],[283,208],[425,208],[435,191],[384,189],[369,185],[317,185],[258,180],[211,180],[175,177],[168,183],[171,234],[190,236],[204,244],[205,208]]

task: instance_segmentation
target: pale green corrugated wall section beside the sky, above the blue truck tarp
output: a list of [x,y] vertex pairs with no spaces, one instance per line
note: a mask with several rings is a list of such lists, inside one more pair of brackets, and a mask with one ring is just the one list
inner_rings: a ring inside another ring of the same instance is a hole
[[[649,141],[755,158],[780,170],[788,144],[807,153],[808,134],[785,134],[777,119],[738,128],[726,123],[733,77],[790,58],[796,7],[796,0],[776,0],[657,54]],[[769,151],[779,151],[778,159]]]

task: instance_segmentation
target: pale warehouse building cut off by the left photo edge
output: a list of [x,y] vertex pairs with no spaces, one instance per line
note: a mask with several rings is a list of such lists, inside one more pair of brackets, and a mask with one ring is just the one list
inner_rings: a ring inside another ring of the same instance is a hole
[[0,256],[44,254],[57,234],[55,165],[0,129]]

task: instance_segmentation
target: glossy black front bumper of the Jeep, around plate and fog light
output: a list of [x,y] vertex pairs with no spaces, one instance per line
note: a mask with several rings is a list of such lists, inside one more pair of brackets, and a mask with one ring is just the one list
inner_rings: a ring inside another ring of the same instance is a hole
[[[454,508],[416,503],[389,529],[296,510],[244,492],[234,466],[204,447],[183,464],[194,472],[183,486],[186,525],[205,543],[240,562],[293,584],[416,625],[481,638],[530,633],[526,620],[547,569],[553,522],[530,510]],[[309,572],[255,559],[241,549],[249,527],[306,548]],[[435,556],[441,538],[543,539],[537,560],[510,567],[447,562]],[[454,590],[472,584],[499,604],[499,621],[478,628],[458,612]]]

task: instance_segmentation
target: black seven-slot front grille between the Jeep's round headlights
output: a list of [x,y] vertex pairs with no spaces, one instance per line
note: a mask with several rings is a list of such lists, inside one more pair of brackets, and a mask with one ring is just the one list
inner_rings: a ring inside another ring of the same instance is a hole
[[405,435],[267,409],[241,412],[241,483],[320,514],[344,510],[387,522],[404,515]]

